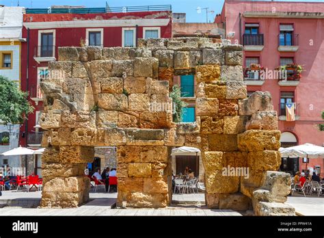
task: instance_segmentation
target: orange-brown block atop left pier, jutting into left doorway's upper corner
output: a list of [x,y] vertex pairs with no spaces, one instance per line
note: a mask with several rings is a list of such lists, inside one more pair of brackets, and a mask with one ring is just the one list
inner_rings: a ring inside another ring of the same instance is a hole
[[59,146],[59,161],[61,163],[91,163],[93,157],[93,147]]

